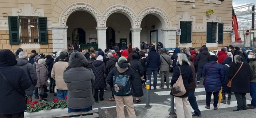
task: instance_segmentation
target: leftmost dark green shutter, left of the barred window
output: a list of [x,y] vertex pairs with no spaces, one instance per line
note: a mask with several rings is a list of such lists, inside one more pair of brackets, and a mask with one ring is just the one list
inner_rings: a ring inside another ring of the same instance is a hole
[[11,45],[20,44],[19,18],[18,16],[8,16],[9,40]]

